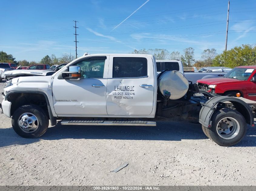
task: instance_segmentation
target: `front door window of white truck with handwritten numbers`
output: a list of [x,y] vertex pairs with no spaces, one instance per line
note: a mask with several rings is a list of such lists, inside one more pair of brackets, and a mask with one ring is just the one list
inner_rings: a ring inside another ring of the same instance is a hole
[[105,58],[86,59],[74,66],[80,66],[81,78],[103,78]]

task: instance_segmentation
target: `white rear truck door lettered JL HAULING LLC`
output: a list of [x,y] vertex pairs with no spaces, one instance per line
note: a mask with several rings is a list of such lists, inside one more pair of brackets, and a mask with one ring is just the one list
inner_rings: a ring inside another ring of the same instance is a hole
[[150,56],[110,56],[107,113],[148,116],[154,103],[154,68]]

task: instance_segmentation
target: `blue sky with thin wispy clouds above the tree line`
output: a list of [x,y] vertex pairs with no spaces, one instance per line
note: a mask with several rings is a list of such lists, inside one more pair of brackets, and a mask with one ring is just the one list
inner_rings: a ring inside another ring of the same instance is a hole
[[[28,61],[52,53],[75,55],[73,20],[79,21],[78,57],[85,52],[130,53],[143,48],[182,54],[191,46],[199,59],[204,49],[224,50],[228,0],[145,2],[2,0],[0,50]],[[255,12],[255,0],[230,1],[228,49],[256,43]]]

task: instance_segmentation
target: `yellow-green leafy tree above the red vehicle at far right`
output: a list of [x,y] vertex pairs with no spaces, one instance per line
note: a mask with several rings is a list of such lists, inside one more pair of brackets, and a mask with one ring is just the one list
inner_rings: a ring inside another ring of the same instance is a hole
[[213,59],[214,66],[234,68],[244,65],[256,64],[256,46],[243,44],[230,50],[224,50]]

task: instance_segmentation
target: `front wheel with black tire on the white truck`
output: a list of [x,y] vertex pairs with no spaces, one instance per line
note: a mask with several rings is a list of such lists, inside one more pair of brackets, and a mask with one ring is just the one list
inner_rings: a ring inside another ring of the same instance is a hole
[[12,116],[14,131],[24,138],[42,136],[49,126],[49,119],[42,108],[35,105],[19,107]]

